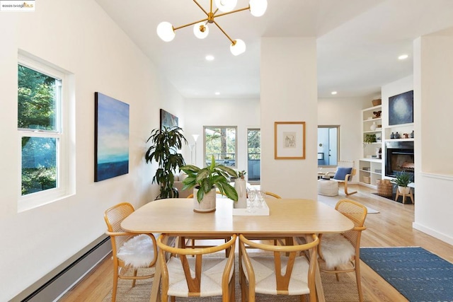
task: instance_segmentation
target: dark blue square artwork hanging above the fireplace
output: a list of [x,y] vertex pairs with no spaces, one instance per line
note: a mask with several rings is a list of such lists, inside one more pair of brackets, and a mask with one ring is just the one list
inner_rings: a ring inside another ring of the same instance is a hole
[[389,126],[413,122],[413,91],[389,98]]

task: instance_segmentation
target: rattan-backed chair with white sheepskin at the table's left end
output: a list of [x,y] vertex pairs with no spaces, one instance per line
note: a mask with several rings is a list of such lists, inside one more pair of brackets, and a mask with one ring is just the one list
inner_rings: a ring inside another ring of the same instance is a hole
[[[152,234],[137,235],[128,233],[120,226],[121,222],[134,211],[127,202],[116,204],[104,213],[107,231],[112,243],[113,291],[112,301],[116,300],[118,279],[132,279],[132,287],[137,279],[154,277],[154,273],[137,276],[137,269],[154,267],[157,260],[156,238]],[[132,269],[132,274],[128,270]]]

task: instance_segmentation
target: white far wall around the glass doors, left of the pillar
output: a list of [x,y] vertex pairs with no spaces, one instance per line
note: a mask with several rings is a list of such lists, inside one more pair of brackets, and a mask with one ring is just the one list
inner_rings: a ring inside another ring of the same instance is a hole
[[[187,99],[185,100],[184,136],[189,145],[197,139],[196,165],[203,166],[203,126],[237,126],[237,166],[247,170],[247,129],[260,127],[260,100],[258,99]],[[195,165],[195,149],[193,151]],[[184,151],[186,163],[190,163],[190,148]]]

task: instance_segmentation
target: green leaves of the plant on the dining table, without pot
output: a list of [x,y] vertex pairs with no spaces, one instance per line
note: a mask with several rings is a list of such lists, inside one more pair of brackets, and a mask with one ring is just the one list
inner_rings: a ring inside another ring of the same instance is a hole
[[180,167],[188,176],[183,180],[183,190],[197,187],[197,200],[200,202],[206,193],[210,192],[213,187],[229,199],[238,201],[238,193],[233,186],[229,184],[229,178],[238,178],[234,169],[216,163],[212,156],[211,164],[205,168],[198,168],[196,165],[184,165]]

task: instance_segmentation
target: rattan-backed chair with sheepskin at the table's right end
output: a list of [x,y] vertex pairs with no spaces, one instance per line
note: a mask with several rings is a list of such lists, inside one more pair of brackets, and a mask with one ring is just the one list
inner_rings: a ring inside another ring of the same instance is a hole
[[341,234],[320,234],[318,246],[319,267],[321,272],[338,274],[355,272],[359,301],[363,301],[360,281],[360,237],[366,229],[367,207],[358,202],[342,199],[335,209],[354,223],[354,228]]

